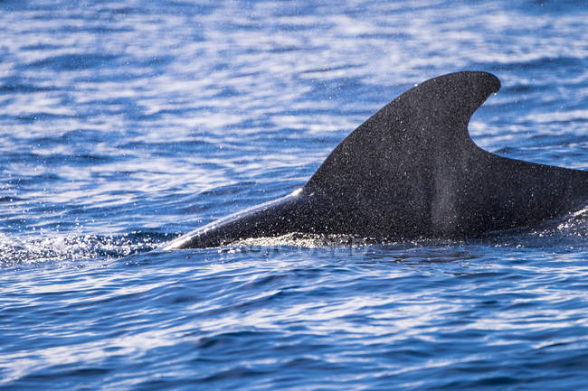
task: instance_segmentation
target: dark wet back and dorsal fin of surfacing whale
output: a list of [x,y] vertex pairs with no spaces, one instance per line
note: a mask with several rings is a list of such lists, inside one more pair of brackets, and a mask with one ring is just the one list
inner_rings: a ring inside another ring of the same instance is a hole
[[470,116],[500,88],[486,72],[409,89],[348,135],[299,191],[198,228],[164,249],[220,247],[292,232],[413,239],[478,237],[588,203],[588,172],[490,154]]

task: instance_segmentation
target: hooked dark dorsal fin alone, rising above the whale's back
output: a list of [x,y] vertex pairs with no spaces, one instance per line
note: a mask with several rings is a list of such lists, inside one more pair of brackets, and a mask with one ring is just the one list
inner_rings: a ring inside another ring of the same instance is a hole
[[380,188],[382,181],[426,170],[457,148],[474,146],[469,117],[499,88],[490,73],[463,71],[409,89],[348,135],[305,188],[341,191],[369,187],[369,179]]

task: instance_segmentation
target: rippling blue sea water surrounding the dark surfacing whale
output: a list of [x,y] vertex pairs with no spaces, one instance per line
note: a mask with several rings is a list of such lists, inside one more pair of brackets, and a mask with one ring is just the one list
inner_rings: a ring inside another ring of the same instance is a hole
[[476,143],[587,170],[585,1],[81,3],[0,3],[0,389],[588,389],[587,209],[149,252],[456,70]]

